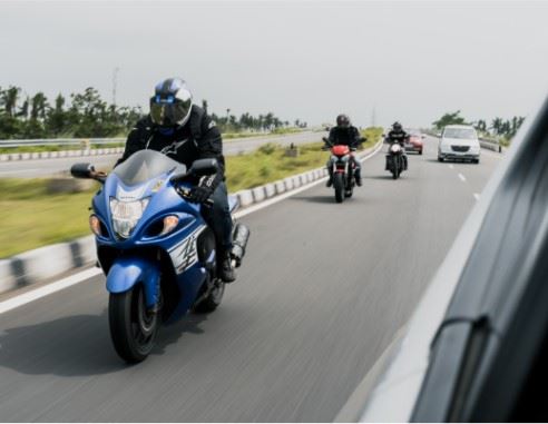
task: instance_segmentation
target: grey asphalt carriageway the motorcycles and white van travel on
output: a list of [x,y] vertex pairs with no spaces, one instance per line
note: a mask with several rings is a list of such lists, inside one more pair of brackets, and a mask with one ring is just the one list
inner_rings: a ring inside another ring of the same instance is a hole
[[110,345],[102,277],[0,315],[0,420],[332,421],[500,157],[440,164],[429,138],[397,181],[383,160],[342,205],[319,185],[246,216],[248,256],[219,309],[164,328],[137,366]]

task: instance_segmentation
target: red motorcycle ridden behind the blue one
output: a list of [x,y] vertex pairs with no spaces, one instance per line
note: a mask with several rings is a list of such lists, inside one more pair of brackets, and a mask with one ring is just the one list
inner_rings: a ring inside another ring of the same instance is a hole
[[332,169],[333,188],[335,189],[335,200],[342,203],[345,197],[352,197],[355,187],[354,169],[355,164],[352,158],[352,151],[345,145],[331,146],[326,145],[324,150],[331,149],[329,167]]

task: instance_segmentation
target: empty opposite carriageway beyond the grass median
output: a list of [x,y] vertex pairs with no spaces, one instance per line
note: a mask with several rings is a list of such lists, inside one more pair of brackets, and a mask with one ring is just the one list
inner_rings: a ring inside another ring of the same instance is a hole
[[[325,132],[304,131],[286,136],[234,138],[224,142],[224,155],[235,156],[255,150],[266,142],[288,146],[321,141]],[[57,159],[16,160],[0,162],[0,178],[37,178],[68,172],[78,161],[92,162],[97,169],[110,169],[121,155],[86,156]]]

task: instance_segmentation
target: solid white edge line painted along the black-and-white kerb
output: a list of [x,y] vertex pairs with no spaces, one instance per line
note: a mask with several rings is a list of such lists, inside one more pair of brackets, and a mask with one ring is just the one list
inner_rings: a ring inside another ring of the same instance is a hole
[[[363,162],[363,161],[372,158],[374,155],[376,155],[376,152],[381,148],[382,148],[382,142],[379,142],[379,146],[372,152],[370,152],[368,156],[361,158],[360,161]],[[261,210],[261,209],[266,208],[273,204],[282,201],[283,199],[286,199],[287,197],[291,197],[291,196],[296,195],[301,191],[307,190],[309,188],[312,188],[315,185],[317,185],[322,181],[325,181],[326,179],[327,179],[327,177],[320,178],[319,180],[313,181],[313,183],[309,183],[307,185],[300,187],[296,190],[286,193],[284,195],[276,196],[270,200],[261,203],[260,205],[249,206],[248,208],[241,210],[234,215],[236,218],[241,218],[243,216],[253,214],[254,211]],[[67,278],[60,279],[58,282],[50,283],[50,284],[42,286],[40,288],[37,288],[35,290],[30,290],[30,292],[23,293],[22,295],[14,296],[10,299],[7,299],[7,300],[0,303],[0,314],[3,314],[4,312],[11,310],[11,309],[14,309],[19,306],[22,306],[22,305],[28,304],[30,302],[33,302],[36,299],[39,299],[40,297],[45,297],[45,296],[48,296],[52,293],[62,290],[63,288],[74,286],[75,284],[82,283],[86,279],[95,277],[99,274],[102,274],[101,269],[89,268],[89,269],[82,270],[78,274],[71,275]]]

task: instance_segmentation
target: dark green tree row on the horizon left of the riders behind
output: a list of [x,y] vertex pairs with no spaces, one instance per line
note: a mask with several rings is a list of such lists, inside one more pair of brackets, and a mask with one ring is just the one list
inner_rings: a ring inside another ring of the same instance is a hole
[[[207,101],[203,101],[207,110]],[[144,117],[140,107],[119,107],[104,100],[92,87],[68,98],[59,93],[50,101],[43,92],[26,95],[19,87],[0,87],[0,139],[94,138],[125,136]],[[282,120],[273,112],[257,117],[245,112],[239,118],[212,114],[223,132],[268,131],[306,122]]]

